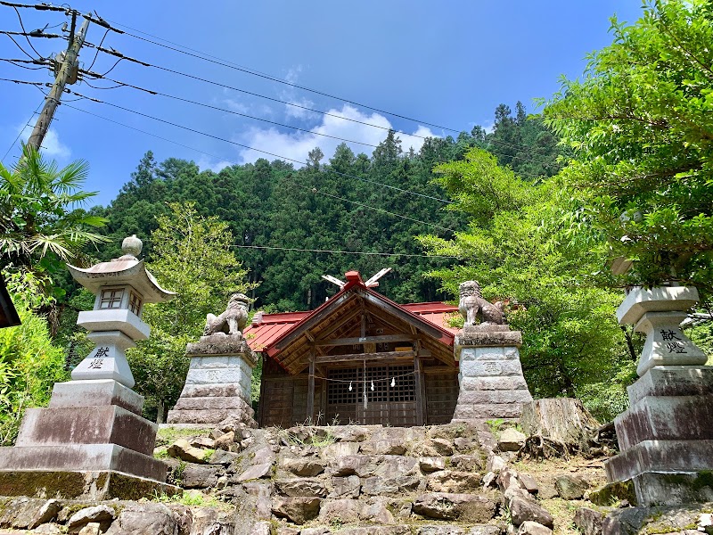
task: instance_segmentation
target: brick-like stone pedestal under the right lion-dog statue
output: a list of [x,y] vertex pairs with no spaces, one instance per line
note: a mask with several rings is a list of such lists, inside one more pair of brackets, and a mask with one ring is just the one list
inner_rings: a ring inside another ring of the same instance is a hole
[[[494,329],[500,330],[494,330]],[[519,418],[532,396],[520,366],[520,331],[465,325],[455,339],[460,390],[454,421]]]

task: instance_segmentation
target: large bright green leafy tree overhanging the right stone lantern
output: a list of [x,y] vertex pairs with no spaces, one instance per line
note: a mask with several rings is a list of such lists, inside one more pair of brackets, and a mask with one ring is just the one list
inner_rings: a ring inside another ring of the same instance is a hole
[[[713,4],[652,0],[582,78],[562,81],[545,122],[574,152],[573,212],[634,260],[626,284],[668,281],[713,292]],[[602,254],[602,257],[605,255]]]

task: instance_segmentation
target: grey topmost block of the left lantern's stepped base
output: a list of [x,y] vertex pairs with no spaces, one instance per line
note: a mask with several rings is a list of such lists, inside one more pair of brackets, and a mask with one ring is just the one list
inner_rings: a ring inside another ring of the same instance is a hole
[[141,416],[143,396],[111,379],[54,383],[50,408],[116,405]]

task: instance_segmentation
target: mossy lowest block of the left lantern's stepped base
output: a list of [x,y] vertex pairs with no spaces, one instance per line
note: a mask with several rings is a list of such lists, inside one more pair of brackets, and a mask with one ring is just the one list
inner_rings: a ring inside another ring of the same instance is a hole
[[183,493],[179,487],[127,473],[17,470],[0,471],[0,496],[60,499],[152,498]]

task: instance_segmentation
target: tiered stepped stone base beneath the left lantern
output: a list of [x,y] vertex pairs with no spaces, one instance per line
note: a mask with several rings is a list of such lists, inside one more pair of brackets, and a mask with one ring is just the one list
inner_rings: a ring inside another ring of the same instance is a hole
[[[15,446],[0,449],[0,481],[25,481],[4,485],[4,493],[128,498],[136,489],[144,496],[179,491],[164,483],[167,467],[152,457],[157,425],[141,416],[142,407],[142,396],[112,379],[55,383],[49,407],[27,409]],[[86,485],[79,493],[55,488],[67,478]]]

